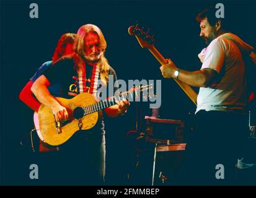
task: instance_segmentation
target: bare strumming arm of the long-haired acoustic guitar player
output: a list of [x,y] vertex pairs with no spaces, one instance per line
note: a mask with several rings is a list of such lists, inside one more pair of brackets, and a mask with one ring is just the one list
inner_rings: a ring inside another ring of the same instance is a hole
[[32,92],[35,97],[42,103],[43,105],[48,106],[53,110],[53,114],[55,115],[56,121],[60,121],[61,119],[68,118],[68,112],[64,106],[61,106],[60,103],[50,94],[48,87],[50,86],[50,82],[46,79],[45,75],[41,75],[32,85]]

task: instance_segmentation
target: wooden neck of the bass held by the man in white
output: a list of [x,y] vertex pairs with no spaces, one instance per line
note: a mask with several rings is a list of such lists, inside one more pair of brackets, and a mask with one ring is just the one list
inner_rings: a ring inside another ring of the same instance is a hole
[[[157,61],[159,61],[161,64],[168,63],[166,61],[166,59],[164,58],[164,56],[162,56],[162,54],[159,53],[159,51],[154,47],[154,45],[152,45],[148,49],[151,52],[151,54],[153,54],[153,56],[157,59]],[[190,85],[185,84],[178,79],[174,79],[174,80],[175,80],[175,82],[177,82],[177,84],[180,86],[180,88],[182,88],[182,90],[187,94],[187,96],[190,98],[190,100],[192,100],[193,103],[195,103],[195,105],[196,105],[197,93],[190,87]]]

